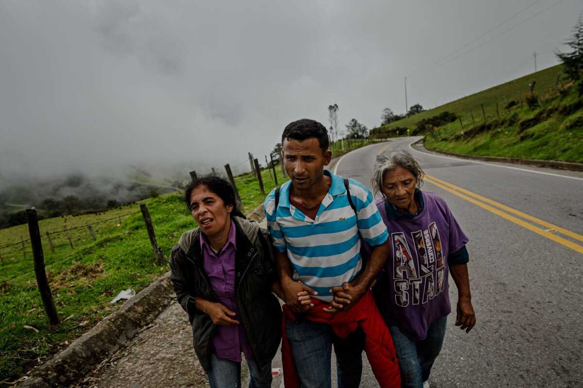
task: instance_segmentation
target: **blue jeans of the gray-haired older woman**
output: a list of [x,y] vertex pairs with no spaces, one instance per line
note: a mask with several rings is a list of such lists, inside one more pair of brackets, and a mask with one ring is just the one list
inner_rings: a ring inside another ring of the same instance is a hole
[[398,326],[389,326],[399,358],[402,388],[423,388],[423,382],[429,379],[431,366],[441,351],[446,323],[447,316],[432,323],[426,339],[421,341],[413,341]]

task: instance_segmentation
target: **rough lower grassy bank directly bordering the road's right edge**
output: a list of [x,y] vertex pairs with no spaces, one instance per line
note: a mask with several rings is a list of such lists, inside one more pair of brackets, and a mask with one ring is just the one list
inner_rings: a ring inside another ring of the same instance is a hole
[[425,144],[465,155],[583,163],[583,97],[577,85],[550,91],[540,105],[517,105],[485,123],[449,123],[426,135]]

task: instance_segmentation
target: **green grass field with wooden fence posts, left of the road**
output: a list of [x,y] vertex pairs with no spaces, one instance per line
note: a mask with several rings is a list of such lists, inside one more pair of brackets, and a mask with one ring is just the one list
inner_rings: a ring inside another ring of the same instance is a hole
[[[280,168],[279,184],[283,179]],[[262,172],[265,192],[275,187],[268,170]],[[248,213],[264,201],[257,179],[251,175],[236,178],[237,188]],[[179,193],[162,195],[141,201],[149,208],[158,244],[166,257],[182,232],[196,227]],[[118,216],[121,217],[119,223]],[[105,222],[100,222],[107,220]],[[48,279],[61,318],[51,328],[38,294],[34,272],[9,279],[33,268],[27,225],[0,230],[0,380],[22,376],[30,366],[46,361],[50,355],[86,332],[120,305],[111,305],[118,292],[135,289],[139,292],[168,270],[156,264],[139,203],[108,212],[67,218],[52,218],[39,222],[41,234],[46,231],[70,229],[75,250],[64,233],[51,234],[55,251],[43,237],[43,251]],[[86,227],[93,225],[97,241]],[[76,228],[76,229],[73,229]],[[38,330],[27,329],[31,326]]]

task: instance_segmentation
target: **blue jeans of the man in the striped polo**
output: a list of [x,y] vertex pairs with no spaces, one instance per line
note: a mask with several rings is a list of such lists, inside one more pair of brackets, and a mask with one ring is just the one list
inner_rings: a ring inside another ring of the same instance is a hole
[[286,336],[302,388],[331,388],[332,343],[339,388],[356,388],[362,374],[364,333],[359,329],[338,339],[326,323],[298,319],[286,322]]

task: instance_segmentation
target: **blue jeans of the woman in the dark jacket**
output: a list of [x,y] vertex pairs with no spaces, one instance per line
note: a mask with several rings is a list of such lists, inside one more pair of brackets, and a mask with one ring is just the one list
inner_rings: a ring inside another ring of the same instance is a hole
[[[247,359],[249,366],[249,388],[271,387],[271,364],[262,369],[252,359]],[[206,374],[210,388],[241,388],[241,363],[229,359],[219,359],[215,353],[210,356],[210,369]]]

